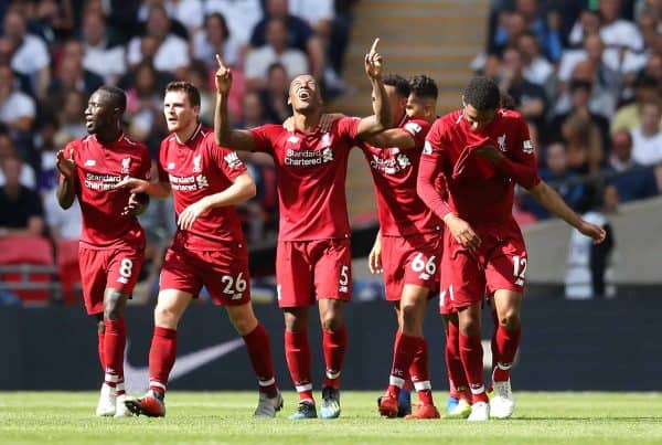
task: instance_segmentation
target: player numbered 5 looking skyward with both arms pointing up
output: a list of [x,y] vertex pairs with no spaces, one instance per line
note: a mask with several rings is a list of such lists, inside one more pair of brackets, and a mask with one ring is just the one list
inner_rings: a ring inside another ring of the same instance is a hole
[[346,348],[343,303],[351,297],[352,271],[350,224],[346,212],[348,156],[359,138],[391,126],[391,109],[382,83],[382,56],[375,40],[365,55],[365,72],[373,88],[375,116],[343,117],[329,131],[319,127],[321,96],[310,75],[290,84],[295,130],[265,125],[252,130],[231,130],[227,98],[232,73],[217,57],[216,115],[214,129],[220,145],[263,151],[274,157],[280,206],[276,259],[278,304],[285,314],[285,350],[288,368],[299,393],[292,420],[317,417],[312,396],[309,306],[319,301],[327,365],[320,416],[340,415],[340,375]]

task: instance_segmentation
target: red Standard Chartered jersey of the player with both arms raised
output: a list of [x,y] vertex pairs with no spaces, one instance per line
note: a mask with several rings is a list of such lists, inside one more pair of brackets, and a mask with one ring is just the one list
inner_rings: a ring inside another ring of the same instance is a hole
[[280,241],[350,236],[345,177],[361,119],[343,117],[329,133],[288,131],[281,125],[252,129],[256,151],[274,157]]

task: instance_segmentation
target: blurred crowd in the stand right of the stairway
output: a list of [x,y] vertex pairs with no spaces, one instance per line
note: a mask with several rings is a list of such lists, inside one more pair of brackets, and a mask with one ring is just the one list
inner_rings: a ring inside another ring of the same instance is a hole
[[[488,35],[472,68],[527,119],[542,178],[575,211],[660,193],[662,1],[493,0]],[[549,218],[524,193],[515,214]]]

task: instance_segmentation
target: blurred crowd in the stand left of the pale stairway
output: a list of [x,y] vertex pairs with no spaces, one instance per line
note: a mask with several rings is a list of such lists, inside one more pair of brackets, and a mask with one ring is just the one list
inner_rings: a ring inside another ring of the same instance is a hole
[[[55,152],[86,135],[88,96],[104,84],[128,94],[125,130],[152,159],[167,135],[163,87],[188,81],[213,124],[215,54],[233,67],[236,126],[281,123],[289,81],[312,73],[327,97],[342,94],[343,52],[357,0],[0,0],[0,239],[77,240],[81,215],[62,211]],[[250,243],[277,224],[269,158],[248,168],[259,195],[243,206]],[[146,274],[156,280],[174,232],[172,203],[152,200]],[[148,261],[149,263],[149,261]]]

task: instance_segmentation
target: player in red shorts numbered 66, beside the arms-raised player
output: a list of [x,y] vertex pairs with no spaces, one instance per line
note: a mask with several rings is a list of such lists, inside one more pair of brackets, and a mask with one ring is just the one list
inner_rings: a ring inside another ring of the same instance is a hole
[[380,398],[380,413],[398,414],[399,392],[410,375],[419,405],[405,418],[438,418],[423,321],[430,292],[437,288],[441,221],[416,194],[418,161],[436,118],[437,85],[427,76],[414,77],[410,85],[401,76],[386,76],[384,84],[399,127],[360,146],[373,174],[380,218],[369,267],[373,274],[384,272],[386,299],[394,303],[398,319],[389,384]]

